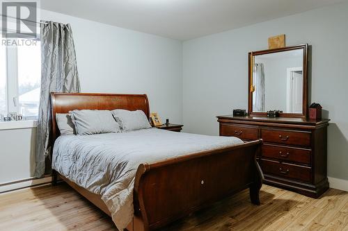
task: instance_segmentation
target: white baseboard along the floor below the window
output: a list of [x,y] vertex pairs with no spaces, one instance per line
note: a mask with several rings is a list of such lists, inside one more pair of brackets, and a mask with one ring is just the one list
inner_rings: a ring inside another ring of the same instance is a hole
[[7,182],[4,184],[0,184],[0,193],[6,192],[6,191],[13,191],[16,189],[23,189],[26,187],[33,187],[36,185],[43,185],[47,184],[52,181],[52,177],[48,176],[45,178],[29,178],[24,180],[19,180],[15,182]]

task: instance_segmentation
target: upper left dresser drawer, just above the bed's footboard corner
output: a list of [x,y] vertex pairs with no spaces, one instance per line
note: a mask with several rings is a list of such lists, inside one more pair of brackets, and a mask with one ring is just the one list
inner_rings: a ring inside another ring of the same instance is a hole
[[258,128],[221,124],[220,135],[238,137],[239,139],[258,139]]

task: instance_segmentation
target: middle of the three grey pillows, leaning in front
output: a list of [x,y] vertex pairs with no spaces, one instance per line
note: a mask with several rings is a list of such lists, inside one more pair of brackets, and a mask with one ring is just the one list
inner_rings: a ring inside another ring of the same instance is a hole
[[73,110],[69,113],[79,135],[120,132],[120,126],[108,110]]

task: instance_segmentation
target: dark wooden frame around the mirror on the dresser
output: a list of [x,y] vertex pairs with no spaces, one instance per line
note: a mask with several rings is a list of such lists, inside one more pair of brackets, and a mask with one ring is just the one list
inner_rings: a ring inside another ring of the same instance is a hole
[[278,53],[283,51],[292,51],[303,49],[303,99],[302,99],[302,113],[280,113],[280,117],[296,117],[306,118],[308,114],[308,44],[301,44],[297,46],[288,46],[279,49],[270,49],[263,51],[251,51],[248,53],[248,112],[250,116],[266,117],[267,112],[253,112],[253,63],[255,55],[264,55],[267,53]]

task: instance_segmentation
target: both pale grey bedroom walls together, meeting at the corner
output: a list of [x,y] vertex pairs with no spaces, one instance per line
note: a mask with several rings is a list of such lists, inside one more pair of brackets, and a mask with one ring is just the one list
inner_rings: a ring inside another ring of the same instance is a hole
[[[72,25],[82,91],[146,93],[162,119],[183,120],[186,132],[212,135],[219,134],[216,115],[247,108],[248,51],[267,49],[267,37],[280,33],[287,45],[308,42],[311,98],[331,118],[329,176],[348,180],[347,12],[347,3],[320,8],[189,40],[183,51],[177,40],[46,10],[41,16]],[[33,173],[33,132],[0,130],[0,185]]]

